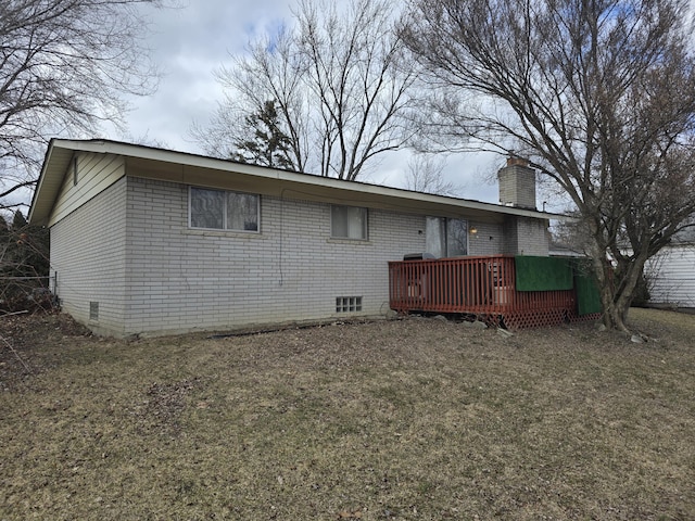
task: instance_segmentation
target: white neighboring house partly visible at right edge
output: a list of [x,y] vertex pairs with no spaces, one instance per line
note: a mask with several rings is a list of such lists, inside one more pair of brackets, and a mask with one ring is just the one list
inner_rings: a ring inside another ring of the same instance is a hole
[[649,302],[695,308],[695,228],[677,233],[645,267]]

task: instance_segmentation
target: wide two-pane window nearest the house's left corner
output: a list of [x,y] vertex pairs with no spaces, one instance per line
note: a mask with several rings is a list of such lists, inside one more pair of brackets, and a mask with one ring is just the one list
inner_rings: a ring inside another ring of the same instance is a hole
[[204,188],[190,189],[190,226],[215,230],[258,231],[260,196]]

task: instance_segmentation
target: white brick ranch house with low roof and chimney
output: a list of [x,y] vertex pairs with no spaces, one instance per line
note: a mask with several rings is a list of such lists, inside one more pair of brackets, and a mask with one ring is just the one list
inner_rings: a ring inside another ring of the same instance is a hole
[[547,255],[534,173],[505,204],[422,194],[114,141],[52,140],[29,221],[50,227],[52,290],[127,336],[384,315],[389,260]]

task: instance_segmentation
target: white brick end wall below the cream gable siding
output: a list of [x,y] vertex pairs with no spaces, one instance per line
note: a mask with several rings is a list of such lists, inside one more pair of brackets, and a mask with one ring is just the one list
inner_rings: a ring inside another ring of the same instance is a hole
[[[122,335],[125,319],[126,178],[51,228],[51,275],[63,309],[96,331]],[[99,319],[89,319],[89,303]]]

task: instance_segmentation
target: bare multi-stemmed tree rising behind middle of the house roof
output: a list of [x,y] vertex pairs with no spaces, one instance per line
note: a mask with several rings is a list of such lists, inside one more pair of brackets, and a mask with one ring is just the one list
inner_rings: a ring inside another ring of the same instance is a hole
[[395,14],[386,0],[302,0],[294,29],[252,43],[219,72],[227,98],[194,137],[208,151],[242,141],[238,122],[273,100],[299,170],[357,178],[413,134],[402,116],[415,74],[404,66]]

